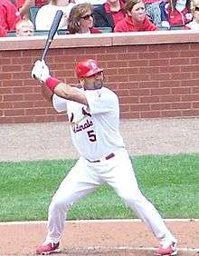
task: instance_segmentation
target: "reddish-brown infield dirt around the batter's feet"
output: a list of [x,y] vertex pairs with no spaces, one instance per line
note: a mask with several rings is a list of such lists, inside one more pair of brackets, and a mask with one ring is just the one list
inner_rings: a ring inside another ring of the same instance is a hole
[[[166,221],[178,239],[180,256],[199,255],[198,221]],[[62,255],[154,255],[158,242],[143,222],[67,222],[61,241]],[[46,234],[46,223],[0,224],[0,255],[34,255]]]

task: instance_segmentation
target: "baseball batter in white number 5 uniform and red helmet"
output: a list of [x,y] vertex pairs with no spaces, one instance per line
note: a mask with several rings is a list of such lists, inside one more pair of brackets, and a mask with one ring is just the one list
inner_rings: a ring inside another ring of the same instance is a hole
[[44,61],[36,61],[32,76],[42,84],[43,96],[58,113],[67,113],[71,139],[81,157],[55,192],[48,212],[48,234],[37,254],[59,251],[66,212],[74,202],[108,183],[146,223],[160,241],[156,255],[176,255],[176,239],[156,208],[140,192],[118,131],[117,94],[103,86],[104,74],[95,60],[76,65],[81,89],[52,77]]

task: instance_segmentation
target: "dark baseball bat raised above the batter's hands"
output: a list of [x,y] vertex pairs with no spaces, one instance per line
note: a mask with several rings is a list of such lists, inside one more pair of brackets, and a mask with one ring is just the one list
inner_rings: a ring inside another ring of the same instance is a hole
[[54,34],[57,32],[57,29],[58,29],[58,26],[60,24],[60,21],[62,19],[62,15],[63,15],[63,12],[62,10],[58,10],[56,12],[56,15],[54,16],[54,19],[53,19],[53,22],[52,22],[52,26],[49,30],[49,33],[48,33],[48,38],[45,42],[45,46],[44,46],[44,49],[43,49],[43,55],[42,55],[42,60],[45,59],[45,56],[48,52],[48,49],[50,47],[50,45],[52,44],[52,40],[53,40],[53,37],[54,37]]

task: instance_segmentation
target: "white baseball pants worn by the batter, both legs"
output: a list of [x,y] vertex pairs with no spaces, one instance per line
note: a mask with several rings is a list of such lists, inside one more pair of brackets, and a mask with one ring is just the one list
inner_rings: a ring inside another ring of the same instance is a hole
[[175,241],[156,208],[140,192],[128,153],[125,149],[121,149],[115,153],[115,157],[100,162],[89,162],[81,157],[71,168],[71,172],[62,181],[52,198],[45,242],[60,241],[66,213],[71,205],[104,182],[115,189],[157,239],[166,238]]

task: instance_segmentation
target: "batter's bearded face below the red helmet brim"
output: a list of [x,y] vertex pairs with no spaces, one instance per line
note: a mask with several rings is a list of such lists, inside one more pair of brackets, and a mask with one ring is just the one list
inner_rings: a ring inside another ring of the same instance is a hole
[[84,77],[82,80],[82,85],[85,90],[97,90],[103,86],[104,74],[99,72],[93,74],[90,77]]

